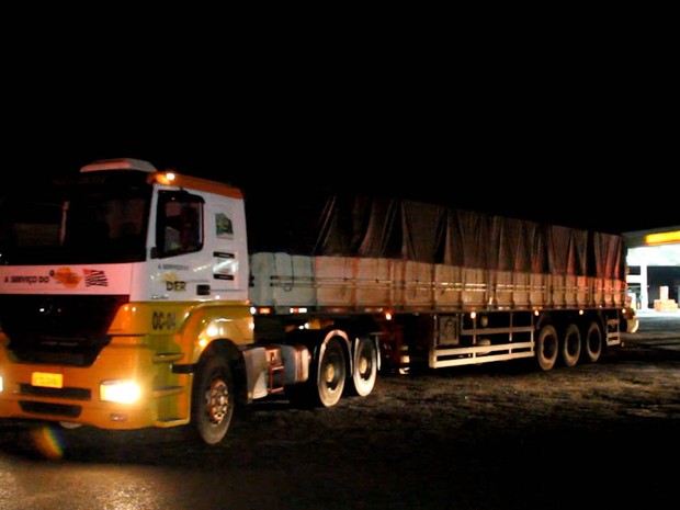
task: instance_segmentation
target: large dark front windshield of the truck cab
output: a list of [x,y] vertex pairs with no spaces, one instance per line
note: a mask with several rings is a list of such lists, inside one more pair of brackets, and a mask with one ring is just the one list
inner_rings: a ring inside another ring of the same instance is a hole
[[[18,193],[19,195],[19,193]],[[146,258],[151,188],[139,175],[82,174],[0,202],[3,264],[116,263]]]

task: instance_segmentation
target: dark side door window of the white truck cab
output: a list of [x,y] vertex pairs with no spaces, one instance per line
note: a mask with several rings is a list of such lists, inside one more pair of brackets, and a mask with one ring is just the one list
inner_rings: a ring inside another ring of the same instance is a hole
[[186,192],[161,191],[158,196],[156,246],[161,257],[203,248],[203,200]]

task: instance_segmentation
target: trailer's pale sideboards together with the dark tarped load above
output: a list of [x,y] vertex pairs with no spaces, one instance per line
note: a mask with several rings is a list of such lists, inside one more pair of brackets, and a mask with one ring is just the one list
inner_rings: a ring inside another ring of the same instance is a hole
[[455,311],[625,301],[620,236],[387,197],[333,196],[319,211],[260,217],[274,236],[250,237],[253,304]]

